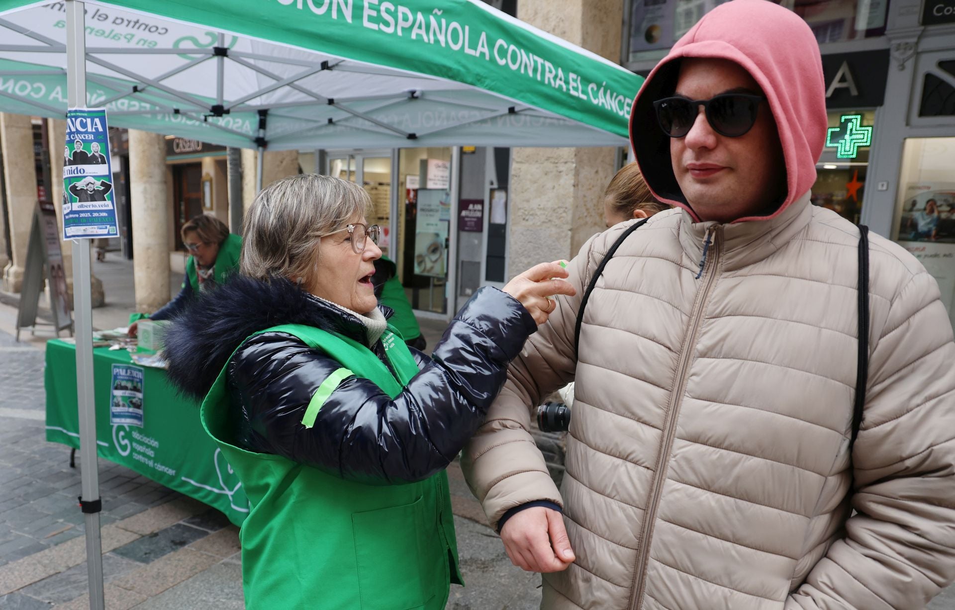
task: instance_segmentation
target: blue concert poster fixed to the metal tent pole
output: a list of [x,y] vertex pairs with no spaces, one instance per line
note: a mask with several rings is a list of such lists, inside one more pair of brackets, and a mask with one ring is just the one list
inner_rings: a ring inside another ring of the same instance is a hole
[[117,237],[106,109],[72,108],[63,149],[63,239]]

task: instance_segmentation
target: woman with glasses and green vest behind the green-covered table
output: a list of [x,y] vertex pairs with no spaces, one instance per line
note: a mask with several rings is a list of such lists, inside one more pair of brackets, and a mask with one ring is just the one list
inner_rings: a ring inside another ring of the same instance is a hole
[[185,262],[185,278],[176,298],[149,315],[134,313],[130,316],[129,335],[135,337],[138,320],[171,320],[185,309],[193,298],[204,290],[223,284],[225,279],[238,272],[242,238],[229,233],[214,216],[200,214],[182,225],[182,244],[189,252]]

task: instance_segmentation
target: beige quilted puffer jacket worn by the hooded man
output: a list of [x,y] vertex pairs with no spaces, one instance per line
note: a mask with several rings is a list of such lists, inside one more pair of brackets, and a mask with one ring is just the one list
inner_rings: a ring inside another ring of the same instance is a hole
[[[923,607],[955,578],[955,343],[932,277],[871,236],[850,457],[858,229],[808,193],[770,221],[657,215],[606,265],[575,362],[584,286],[625,228],[570,263],[577,296],[527,342],[466,450],[493,523],[563,506],[577,560],[544,575],[541,607]],[[531,409],[575,379],[558,493]]]

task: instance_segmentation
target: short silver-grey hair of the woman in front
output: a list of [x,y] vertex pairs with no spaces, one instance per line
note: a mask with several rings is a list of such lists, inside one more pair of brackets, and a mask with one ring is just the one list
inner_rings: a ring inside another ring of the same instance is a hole
[[371,212],[361,186],[330,176],[300,174],[263,189],[245,214],[240,269],[265,280],[309,284],[323,235]]

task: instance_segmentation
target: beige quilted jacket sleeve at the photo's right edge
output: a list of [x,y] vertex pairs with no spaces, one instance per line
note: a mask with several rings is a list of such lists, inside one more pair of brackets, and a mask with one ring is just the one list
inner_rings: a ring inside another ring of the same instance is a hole
[[869,362],[856,512],[786,610],[913,610],[955,578],[955,343],[924,270],[893,299]]

